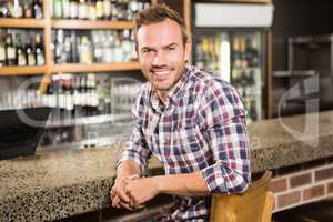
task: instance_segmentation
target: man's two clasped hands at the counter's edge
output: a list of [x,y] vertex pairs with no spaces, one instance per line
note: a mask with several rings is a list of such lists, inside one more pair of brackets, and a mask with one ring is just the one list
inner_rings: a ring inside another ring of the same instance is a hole
[[159,193],[153,178],[119,176],[110,191],[112,206],[137,210]]

